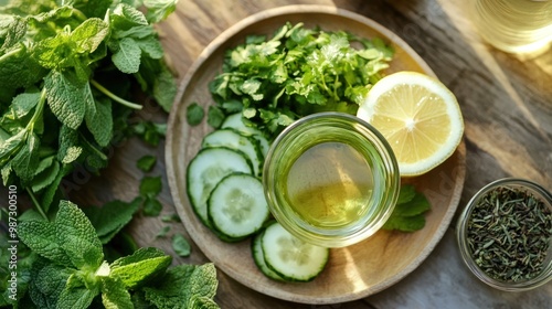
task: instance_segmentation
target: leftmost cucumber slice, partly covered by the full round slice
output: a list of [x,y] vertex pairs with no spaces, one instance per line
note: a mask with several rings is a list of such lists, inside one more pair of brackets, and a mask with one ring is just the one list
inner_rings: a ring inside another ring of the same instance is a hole
[[232,172],[252,173],[251,162],[240,151],[225,147],[203,148],[188,166],[188,196],[193,211],[208,227],[213,227],[208,215],[209,195],[216,183]]

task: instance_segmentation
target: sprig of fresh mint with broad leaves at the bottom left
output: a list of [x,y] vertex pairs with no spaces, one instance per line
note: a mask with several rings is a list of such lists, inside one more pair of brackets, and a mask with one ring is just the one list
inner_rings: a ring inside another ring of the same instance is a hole
[[[108,224],[99,227],[112,230]],[[219,308],[212,264],[169,267],[171,256],[151,247],[109,263],[96,231],[67,201],[51,222],[38,214],[23,221],[19,236],[31,253],[18,265],[25,276],[18,283],[14,307]],[[3,297],[0,305],[6,306]]]

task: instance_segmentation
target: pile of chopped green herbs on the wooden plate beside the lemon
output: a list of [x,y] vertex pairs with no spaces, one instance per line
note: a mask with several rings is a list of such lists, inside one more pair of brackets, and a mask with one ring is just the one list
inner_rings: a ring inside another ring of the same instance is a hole
[[210,90],[225,114],[242,111],[270,137],[311,113],[355,114],[393,53],[379,38],[286,23],[229,50]]

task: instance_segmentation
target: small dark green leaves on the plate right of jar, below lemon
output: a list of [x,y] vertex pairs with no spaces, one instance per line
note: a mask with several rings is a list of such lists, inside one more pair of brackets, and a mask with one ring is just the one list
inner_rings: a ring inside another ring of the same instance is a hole
[[425,226],[425,212],[431,204],[421,192],[416,192],[414,185],[401,185],[399,200],[390,219],[382,228],[399,230],[402,232],[414,232]]

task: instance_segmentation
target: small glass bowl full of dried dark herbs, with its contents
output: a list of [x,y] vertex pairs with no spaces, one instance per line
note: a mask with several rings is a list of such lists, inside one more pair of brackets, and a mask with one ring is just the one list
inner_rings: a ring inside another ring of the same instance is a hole
[[552,279],[551,213],[552,194],[534,182],[507,178],[487,184],[458,219],[464,263],[500,290],[544,285]]

